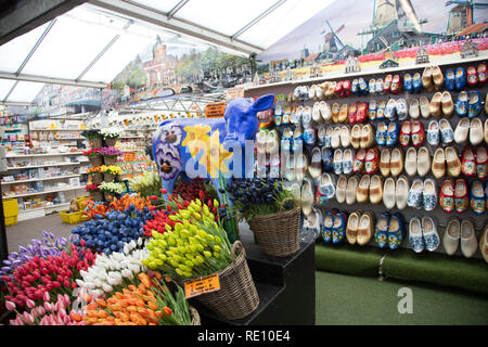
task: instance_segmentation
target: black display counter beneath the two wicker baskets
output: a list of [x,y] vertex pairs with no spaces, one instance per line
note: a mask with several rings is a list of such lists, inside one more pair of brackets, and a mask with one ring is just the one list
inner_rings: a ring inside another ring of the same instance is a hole
[[285,258],[262,254],[246,223],[240,223],[241,242],[259,295],[259,306],[249,316],[227,321],[190,299],[202,325],[314,325],[314,242],[300,241],[299,250]]

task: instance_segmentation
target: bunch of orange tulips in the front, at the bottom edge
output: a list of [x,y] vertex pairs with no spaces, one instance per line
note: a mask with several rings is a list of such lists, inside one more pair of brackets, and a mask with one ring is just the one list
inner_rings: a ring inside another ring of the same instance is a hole
[[[162,274],[157,271],[139,273],[134,284],[110,298],[92,298],[82,320],[87,325],[189,325],[191,324],[188,301],[181,287],[171,294]],[[169,279],[166,279],[170,281]]]

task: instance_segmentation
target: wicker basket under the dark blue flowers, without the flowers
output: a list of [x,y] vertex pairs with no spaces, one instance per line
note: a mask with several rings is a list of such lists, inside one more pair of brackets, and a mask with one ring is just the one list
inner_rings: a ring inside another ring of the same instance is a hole
[[264,254],[273,257],[287,257],[300,248],[301,209],[295,207],[282,211],[284,204],[288,201],[292,201],[292,198],[287,197],[281,203],[280,213],[254,216],[248,221],[249,229],[254,232]]

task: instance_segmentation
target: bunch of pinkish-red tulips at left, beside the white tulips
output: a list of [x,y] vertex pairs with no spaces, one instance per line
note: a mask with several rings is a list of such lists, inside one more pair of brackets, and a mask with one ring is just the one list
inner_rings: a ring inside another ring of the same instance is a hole
[[90,248],[77,248],[74,244],[70,245],[69,254],[63,250],[59,256],[49,255],[47,258],[36,255],[16,268],[12,277],[3,277],[9,292],[4,299],[24,308],[28,300],[40,304],[46,294],[52,299],[57,294],[70,296],[77,287],[75,281],[79,279],[79,271],[93,265],[95,257],[97,254]]

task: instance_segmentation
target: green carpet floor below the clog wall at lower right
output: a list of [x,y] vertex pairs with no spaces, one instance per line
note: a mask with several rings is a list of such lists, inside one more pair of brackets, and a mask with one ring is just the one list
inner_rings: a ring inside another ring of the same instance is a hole
[[[488,297],[468,291],[316,271],[317,325],[486,325]],[[399,313],[398,291],[412,291],[412,313]]]

